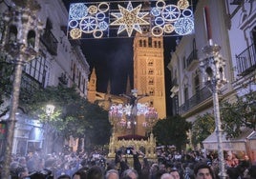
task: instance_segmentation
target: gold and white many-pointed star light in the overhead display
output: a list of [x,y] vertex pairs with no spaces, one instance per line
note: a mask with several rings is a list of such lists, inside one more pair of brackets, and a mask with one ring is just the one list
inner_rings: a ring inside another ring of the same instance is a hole
[[143,19],[149,12],[139,12],[141,6],[142,5],[140,4],[134,9],[131,1],[129,1],[126,9],[118,5],[120,12],[111,13],[111,15],[117,18],[116,21],[110,24],[111,26],[119,26],[117,34],[126,30],[128,36],[131,37],[133,30],[137,30],[139,33],[142,33],[140,25],[149,25],[149,22]]

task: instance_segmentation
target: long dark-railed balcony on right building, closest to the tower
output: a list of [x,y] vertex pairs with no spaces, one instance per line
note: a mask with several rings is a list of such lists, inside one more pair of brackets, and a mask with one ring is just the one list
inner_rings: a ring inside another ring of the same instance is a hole
[[212,92],[207,87],[200,89],[195,95],[193,95],[179,107],[179,113],[182,115],[190,109],[193,109],[194,107],[198,106],[211,96]]

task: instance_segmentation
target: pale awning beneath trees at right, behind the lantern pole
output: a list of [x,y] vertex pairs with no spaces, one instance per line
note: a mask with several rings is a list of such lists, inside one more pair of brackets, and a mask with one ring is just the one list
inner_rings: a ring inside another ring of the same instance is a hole
[[[224,150],[246,150],[245,143],[250,140],[252,136],[254,136],[255,131],[253,129],[243,129],[242,134],[234,139],[226,139],[225,134],[223,135],[223,149]],[[251,138],[252,139],[252,138]],[[256,142],[256,136],[252,141]],[[250,141],[250,142],[252,142]],[[213,132],[203,141],[203,148],[204,149],[218,149],[218,142],[217,142],[217,135],[216,132]]]

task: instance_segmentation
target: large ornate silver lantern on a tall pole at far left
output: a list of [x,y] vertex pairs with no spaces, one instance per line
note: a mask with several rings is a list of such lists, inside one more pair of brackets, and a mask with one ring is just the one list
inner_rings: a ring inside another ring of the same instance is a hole
[[6,29],[0,46],[0,50],[8,54],[9,58],[15,62],[2,178],[10,177],[11,150],[16,122],[15,113],[19,101],[22,68],[37,54],[39,36],[43,29],[42,23],[36,16],[36,12],[40,10],[37,2],[33,0],[12,0],[12,2],[15,5],[3,14]]

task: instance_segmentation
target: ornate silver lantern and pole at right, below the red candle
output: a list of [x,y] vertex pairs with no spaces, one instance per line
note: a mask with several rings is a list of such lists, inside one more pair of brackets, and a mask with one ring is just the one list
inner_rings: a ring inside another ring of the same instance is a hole
[[218,159],[220,177],[226,178],[224,169],[224,149],[223,149],[223,129],[220,116],[219,96],[218,92],[226,84],[224,77],[224,59],[220,55],[221,47],[209,43],[208,46],[203,48],[203,52],[206,57],[200,61],[200,68],[203,72],[203,83],[212,91],[213,94],[213,106],[214,106],[214,119],[215,119],[215,131],[218,142]]

